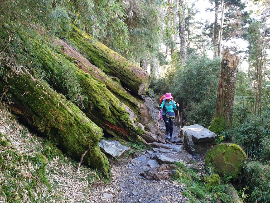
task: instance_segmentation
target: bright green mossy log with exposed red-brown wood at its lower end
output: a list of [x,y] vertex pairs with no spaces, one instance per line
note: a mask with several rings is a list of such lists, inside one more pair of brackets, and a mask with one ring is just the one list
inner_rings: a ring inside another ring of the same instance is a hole
[[[76,63],[67,60],[63,53],[56,52],[57,48],[50,49],[47,45],[39,47],[37,51],[38,60],[42,70],[48,74],[50,85],[64,95],[68,94],[66,86],[62,85],[61,78],[64,67],[66,70],[75,70],[75,75],[81,87],[81,94],[86,96],[83,100],[84,109],[82,111],[96,125],[100,126],[104,133],[114,137],[120,137],[125,140],[138,140],[137,129],[133,121],[133,111],[125,104],[120,103],[102,82],[99,82],[94,76],[85,73],[76,66]],[[69,98],[70,99],[70,98]],[[79,103],[75,103],[79,106]]]

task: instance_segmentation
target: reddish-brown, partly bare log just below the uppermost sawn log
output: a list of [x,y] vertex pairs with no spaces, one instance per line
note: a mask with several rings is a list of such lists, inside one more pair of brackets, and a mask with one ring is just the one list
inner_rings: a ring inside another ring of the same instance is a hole
[[83,57],[83,55],[77,53],[63,40],[55,40],[54,43],[61,47],[61,51],[64,53],[65,58],[74,63],[78,68],[85,71],[85,73],[90,74],[98,81],[106,84],[107,89],[109,89],[121,102],[130,107],[134,113],[138,114],[139,105],[142,102],[128,93],[121,84],[115,82],[114,80],[117,80],[117,78],[107,76],[102,70],[91,64],[85,57]]

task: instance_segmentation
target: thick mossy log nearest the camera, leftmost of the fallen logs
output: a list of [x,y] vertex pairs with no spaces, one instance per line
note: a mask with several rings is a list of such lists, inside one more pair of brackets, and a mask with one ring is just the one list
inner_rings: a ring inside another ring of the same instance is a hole
[[37,80],[24,68],[21,71],[9,67],[2,69],[1,90],[6,88],[6,96],[11,97],[11,106],[25,123],[50,140],[57,143],[68,155],[79,160],[84,156],[87,166],[99,169],[110,177],[110,165],[100,151],[98,142],[103,136],[102,129],[88,119],[75,104],[66,100],[43,81]]

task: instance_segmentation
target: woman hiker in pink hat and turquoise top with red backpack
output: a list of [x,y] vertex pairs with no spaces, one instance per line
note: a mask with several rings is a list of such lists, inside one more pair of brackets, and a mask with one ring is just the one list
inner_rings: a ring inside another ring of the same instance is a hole
[[179,106],[179,104],[176,104],[172,99],[173,97],[171,96],[171,93],[166,93],[161,106],[158,105],[158,109],[160,111],[163,110],[162,118],[166,126],[165,139],[170,139],[171,142],[173,141],[173,119],[175,118],[174,109],[177,110]]

